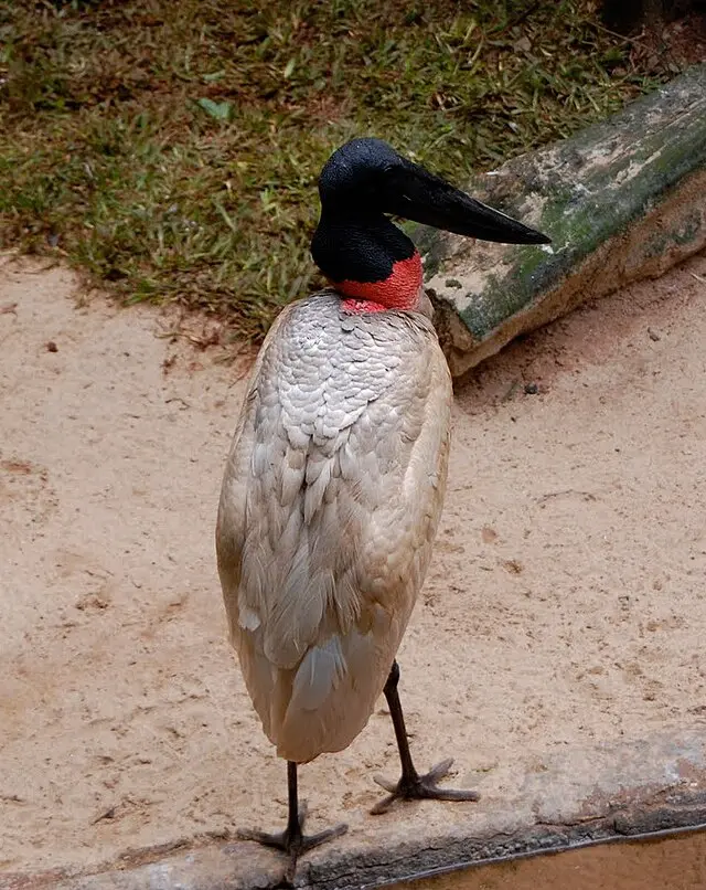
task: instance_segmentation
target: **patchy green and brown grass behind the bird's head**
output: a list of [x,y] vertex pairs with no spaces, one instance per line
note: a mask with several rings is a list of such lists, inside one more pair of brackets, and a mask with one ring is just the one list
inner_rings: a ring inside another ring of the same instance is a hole
[[673,74],[645,57],[585,0],[0,0],[0,246],[257,340],[319,284],[333,148],[463,183]]

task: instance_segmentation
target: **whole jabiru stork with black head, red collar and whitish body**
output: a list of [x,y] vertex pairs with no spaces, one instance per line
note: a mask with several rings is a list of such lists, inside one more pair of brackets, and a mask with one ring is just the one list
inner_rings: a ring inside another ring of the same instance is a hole
[[287,761],[288,820],[242,838],[297,857],[345,825],[303,834],[298,767],[342,751],[385,695],[397,799],[477,801],[420,775],[398,696],[397,649],[427,572],[446,489],[451,377],[421,258],[389,219],[513,244],[549,239],[456,189],[382,139],[335,150],[319,177],[311,256],[330,286],[288,305],[255,361],[216,522],[231,642]]

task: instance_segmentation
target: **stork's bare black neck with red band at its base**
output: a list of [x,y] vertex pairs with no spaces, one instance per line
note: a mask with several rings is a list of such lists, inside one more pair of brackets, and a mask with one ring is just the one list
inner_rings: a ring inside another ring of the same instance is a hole
[[323,211],[311,242],[314,263],[351,312],[417,309],[421,258],[383,214]]

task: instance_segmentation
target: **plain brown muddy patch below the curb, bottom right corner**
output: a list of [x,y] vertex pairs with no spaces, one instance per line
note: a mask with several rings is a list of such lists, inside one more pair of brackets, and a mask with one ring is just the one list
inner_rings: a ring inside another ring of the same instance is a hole
[[603,844],[397,883],[394,890],[704,890],[706,831]]

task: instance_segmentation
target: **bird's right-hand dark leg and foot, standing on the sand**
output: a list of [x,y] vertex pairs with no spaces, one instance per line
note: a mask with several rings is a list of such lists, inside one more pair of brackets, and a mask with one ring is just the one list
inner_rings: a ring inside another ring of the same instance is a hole
[[402,762],[402,777],[397,784],[387,782],[379,776],[375,776],[375,782],[382,785],[389,794],[378,804],[371,809],[371,813],[377,815],[385,813],[392,804],[402,798],[405,801],[420,801],[431,798],[435,801],[478,801],[479,794],[474,791],[457,791],[454,788],[440,788],[437,785],[439,778],[442,778],[451,769],[453,760],[445,760],[438,763],[426,775],[419,775],[415,770],[409,753],[409,741],[407,740],[407,731],[405,729],[405,716],[399,702],[397,693],[397,684],[399,682],[399,665],[393,661],[389,677],[385,684],[385,698],[389,707],[389,713],[393,719],[395,728],[395,737],[397,739],[397,748],[399,750],[399,760]]

